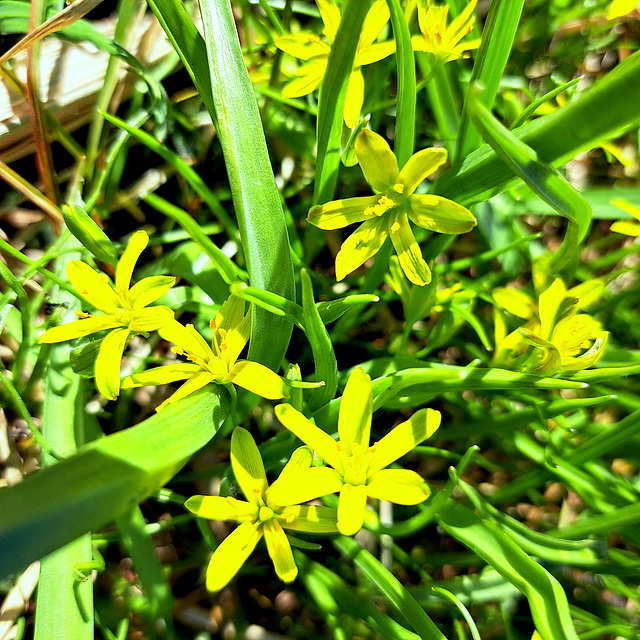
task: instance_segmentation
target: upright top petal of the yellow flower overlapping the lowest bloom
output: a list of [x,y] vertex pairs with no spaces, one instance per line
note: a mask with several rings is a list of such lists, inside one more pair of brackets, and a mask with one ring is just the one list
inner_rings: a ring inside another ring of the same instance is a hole
[[372,411],[371,378],[358,366],[349,376],[340,400],[338,434],[341,446],[348,448],[353,442],[365,448],[369,446]]

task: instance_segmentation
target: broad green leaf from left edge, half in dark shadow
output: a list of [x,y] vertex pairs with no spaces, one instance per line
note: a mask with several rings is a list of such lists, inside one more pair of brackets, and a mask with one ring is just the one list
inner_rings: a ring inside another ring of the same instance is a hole
[[205,388],[0,493],[0,576],[144,500],[215,435],[228,407],[226,392]]

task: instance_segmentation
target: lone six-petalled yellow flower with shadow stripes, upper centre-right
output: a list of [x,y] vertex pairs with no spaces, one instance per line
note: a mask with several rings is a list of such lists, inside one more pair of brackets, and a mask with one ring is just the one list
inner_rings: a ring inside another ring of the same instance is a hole
[[476,224],[463,206],[434,195],[414,193],[418,185],[447,159],[445,149],[414,153],[401,171],[387,142],[364,129],[355,144],[367,182],[378,195],[333,200],[312,207],[307,220],[320,229],[361,224],[342,244],[336,256],[336,279],[342,280],[374,256],[388,236],[407,278],[417,285],[431,281],[431,271],[413,235],[409,220],[439,233],[465,233]]

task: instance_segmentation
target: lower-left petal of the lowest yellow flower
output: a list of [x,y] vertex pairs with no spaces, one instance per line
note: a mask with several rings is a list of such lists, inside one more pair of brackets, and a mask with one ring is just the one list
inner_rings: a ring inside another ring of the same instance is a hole
[[243,522],[232,531],[215,550],[207,567],[206,586],[220,591],[238,573],[262,538],[262,525]]

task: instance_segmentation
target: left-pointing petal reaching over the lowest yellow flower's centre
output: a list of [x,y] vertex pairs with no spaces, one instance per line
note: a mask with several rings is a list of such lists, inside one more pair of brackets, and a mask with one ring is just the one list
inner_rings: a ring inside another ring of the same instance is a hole
[[266,501],[277,506],[300,504],[336,493],[342,484],[340,474],[330,467],[296,469],[267,489]]

